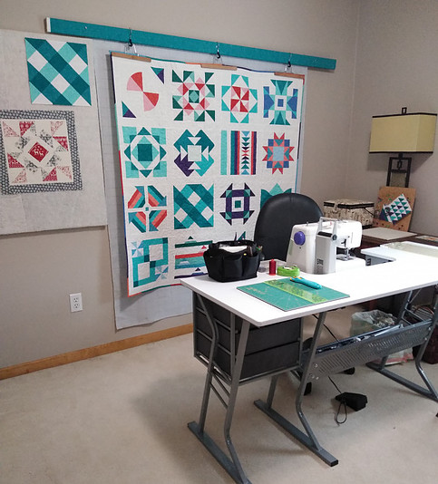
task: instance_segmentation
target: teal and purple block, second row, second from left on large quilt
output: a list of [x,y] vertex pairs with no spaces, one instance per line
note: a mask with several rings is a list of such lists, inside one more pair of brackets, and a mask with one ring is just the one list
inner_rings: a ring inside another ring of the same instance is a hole
[[186,177],[189,177],[193,171],[202,177],[214,163],[210,155],[214,143],[202,130],[198,131],[196,136],[189,130],[184,131],[174,146],[178,150],[175,164]]

